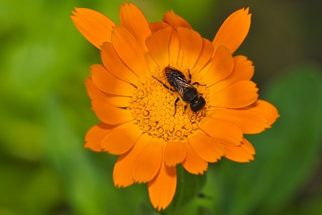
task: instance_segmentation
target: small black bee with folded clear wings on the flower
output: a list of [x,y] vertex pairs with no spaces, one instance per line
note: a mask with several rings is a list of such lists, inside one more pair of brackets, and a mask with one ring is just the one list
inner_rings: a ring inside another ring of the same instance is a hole
[[[166,73],[166,76],[167,76],[169,84],[174,89],[170,88],[164,82],[158,80],[154,76],[152,76],[152,78],[156,79],[156,81],[158,81],[159,83],[163,84],[163,86],[165,88],[167,88],[168,90],[170,90],[172,92],[178,92],[178,94],[180,95],[181,99],[184,102],[190,104],[190,109],[193,112],[197,112],[197,111],[201,110],[205,106],[205,104],[206,104],[205,99],[202,96],[200,96],[200,94],[198,93],[197,89],[194,87],[194,85],[201,85],[201,84],[199,84],[198,82],[194,82],[194,83],[191,84],[190,69],[188,69],[188,76],[189,76],[188,81],[187,81],[185,75],[183,75],[183,73],[178,69],[173,69],[173,68],[170,68],[170,67],[166,67],[165,68],[165,73]],[[205,86],[205,85],[201,85],[201,86]],[[177,112],[177,102],[178,101],[179,101],[179,97],[175,101],[175,114]],[[185,106],[185,109],[186,108],[187,108],[187,105]]]

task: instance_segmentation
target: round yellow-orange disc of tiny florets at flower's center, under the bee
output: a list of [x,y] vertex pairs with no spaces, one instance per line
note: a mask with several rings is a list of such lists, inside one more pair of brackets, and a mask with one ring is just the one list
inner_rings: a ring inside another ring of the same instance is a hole
[[[188,70],[181,71],[185,77],[188,77]],[[201,110],[193,112],[190,109],[190,103],[184,102],[178,92],[167,89],[157,81],[159,80],[169,88],[174,89],[170,86],[164,69],[156,71],[153,77],[137,86],[129,105],[139,128],[153,137],[164,138],[166,141],[169,139],[185,139],[198,128],[198,122],[209,108],[206,86],[193,85],[197,89],[198,98],[202,96],[206,100],[206,104]],[[203,84],[193,71],[191,71],[191,77],[191,83]],[[186,78],[187,81],[188,79]],[[179,100],[176,102],[178,98]]]

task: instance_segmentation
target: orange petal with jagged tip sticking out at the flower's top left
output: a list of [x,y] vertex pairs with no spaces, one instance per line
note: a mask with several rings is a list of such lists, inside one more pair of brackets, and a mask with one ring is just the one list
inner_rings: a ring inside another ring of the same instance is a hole
[[70,16],[70,18],[78,31],[90,43],[101,49],[104,42],[111,41],[112,27],[115,26],[112,20],[87,8],[75,8],[75,11],[72,11],[73,16]]

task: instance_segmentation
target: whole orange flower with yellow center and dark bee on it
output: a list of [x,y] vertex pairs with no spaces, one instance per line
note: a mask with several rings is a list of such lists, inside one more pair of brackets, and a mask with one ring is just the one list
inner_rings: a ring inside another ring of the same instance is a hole
[[[258,99],[250,81],[252,61],[232,56],[248,34],[248,11],[231,14],[211,42],[173,11],[163,22],[148,23],[136,6],[125,3],[116,25],[96,11],[76,8],[71,19],[101,50],[103,62],[91,66],[85,82],[102,121],[88,131],[85,147],[119,155],[116,186],[147,182],[151,203],[160,210],[174,197],[176,165],[203,174],[208,162],[222,156],[254,160],[243,134],[262,132],[279,115]],[[196,112],[190,103],[198,106]]]

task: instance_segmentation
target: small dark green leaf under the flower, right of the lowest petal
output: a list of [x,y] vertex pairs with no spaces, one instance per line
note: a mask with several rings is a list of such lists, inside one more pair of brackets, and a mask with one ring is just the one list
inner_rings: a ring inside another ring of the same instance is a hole
[[206,181],[206,175],[194,175],[188,173],[181,165],[177,166],[176,194],[165,210],[165,214],[179,214],[184,207],[191,202],[202,189]]

